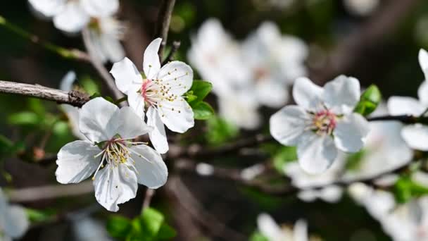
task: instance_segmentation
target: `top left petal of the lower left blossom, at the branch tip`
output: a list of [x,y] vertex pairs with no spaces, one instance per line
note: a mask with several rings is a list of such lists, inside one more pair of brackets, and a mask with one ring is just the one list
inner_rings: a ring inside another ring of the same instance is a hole
[[106,99],[97,97],[87,102],[80,110],[79,128],[92,142],[110,140],[110,132],[107,130],[108,121],[118,111],[115,106]]

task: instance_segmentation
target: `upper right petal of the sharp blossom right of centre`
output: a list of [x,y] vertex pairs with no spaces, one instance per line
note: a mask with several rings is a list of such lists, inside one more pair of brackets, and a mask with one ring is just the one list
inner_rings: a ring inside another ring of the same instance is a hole
[[324,86],[322,99],[335,113],[351,113],[360,100],[360,82],[340,75]]

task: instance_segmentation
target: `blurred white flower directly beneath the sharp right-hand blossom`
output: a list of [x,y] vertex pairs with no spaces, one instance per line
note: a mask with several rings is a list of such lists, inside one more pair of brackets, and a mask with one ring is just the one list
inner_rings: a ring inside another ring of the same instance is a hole
[[[298,187],[301,192],[297,197],[305,202],[313,202],[315,199],[322,199],[325,202],[339,202],[342,195],[342,187],[332,185],[339,180],[344,168],[344,154],[339,153],[338,158],[325,173],[309,174],[303,171],[298,162],[287,163],[284,166],[284,173],[291,178],[291,184]],[[322,188],[312,188],[322,187]]]

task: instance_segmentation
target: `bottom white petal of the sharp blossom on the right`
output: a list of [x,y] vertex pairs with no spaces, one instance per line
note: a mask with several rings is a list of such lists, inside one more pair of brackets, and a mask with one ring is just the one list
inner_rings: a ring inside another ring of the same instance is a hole
[[298,163],[310,174],[326,171],[337,156],[337,149],[330,136],[304,132],[297,144]]

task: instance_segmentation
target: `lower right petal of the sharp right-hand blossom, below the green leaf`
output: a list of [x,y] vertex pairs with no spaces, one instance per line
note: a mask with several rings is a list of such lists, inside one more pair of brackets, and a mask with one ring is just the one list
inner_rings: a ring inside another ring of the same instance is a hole
[[344,152],[358,152],[364,147],[365,137],[369,133],[369,123],[358,113],[344,116],[334,128],[334,143]]

